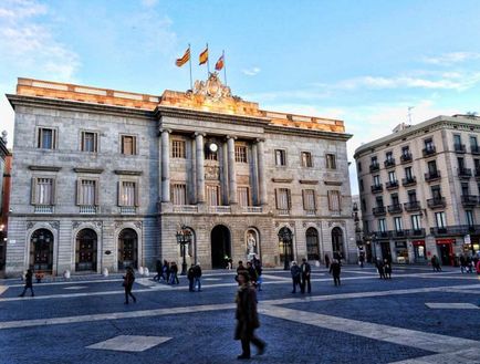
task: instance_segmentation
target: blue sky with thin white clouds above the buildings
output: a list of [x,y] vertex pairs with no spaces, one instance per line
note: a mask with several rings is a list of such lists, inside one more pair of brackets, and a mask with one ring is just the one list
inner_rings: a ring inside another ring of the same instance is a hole
[[[2,0],[0,94],[18,76],[161,94],[209,43],[232,92],[262,108],[342,118],[348,152],[407,121],[479,112],[478,1]],[[205,79],[194,63],[194,79]],[[13,113],[0,97],[0,128]],[[351,169],[353,191],[357,191]]]

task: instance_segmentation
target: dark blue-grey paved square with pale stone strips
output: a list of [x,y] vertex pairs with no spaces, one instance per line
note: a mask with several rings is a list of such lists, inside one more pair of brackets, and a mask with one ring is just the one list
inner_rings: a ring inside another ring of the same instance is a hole
[[[234,273],[205,272],[202,291],[137,277],[124,304],[119,275],[34,285],[0,280],[0,363],[232,363]],[[457,304],[455,304],[457,303]],[[461,303],[461,304],[459,304]],[[480,363],[480,277],[457,269],[346,266],[342,285],[323,268],[311,294],[292,294],[289,272],[265,270],[259,292],[263,356],[251,363]]]

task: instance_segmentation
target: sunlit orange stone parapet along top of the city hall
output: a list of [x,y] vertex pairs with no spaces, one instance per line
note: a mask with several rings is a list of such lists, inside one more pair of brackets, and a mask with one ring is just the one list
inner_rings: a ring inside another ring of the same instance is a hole
[[271,124],[283,127],[345,133],[344,123],[340,119],[263,111],[259,108],[258,103],[243,101],[234,96],[215,101],[202,94],[169,90],[158,96],[32,79],[19,79],[17,94],[146,111],[154,111],[157,106],[165,106],[264,117],[270,119]]

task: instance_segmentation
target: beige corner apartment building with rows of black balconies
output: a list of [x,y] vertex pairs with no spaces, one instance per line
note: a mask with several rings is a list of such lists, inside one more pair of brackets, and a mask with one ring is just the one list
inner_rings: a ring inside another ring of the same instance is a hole
[[364,237],[375,257],[455,264],[480,250],[480,121],[438,116],[355,152]]

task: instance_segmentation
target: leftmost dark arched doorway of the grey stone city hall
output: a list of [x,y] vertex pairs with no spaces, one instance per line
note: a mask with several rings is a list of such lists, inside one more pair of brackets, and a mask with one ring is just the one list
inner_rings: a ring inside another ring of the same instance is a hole
[[52,271],[53,268],[53,233],[39,229],[30,238],[30,266],[36,271]]

